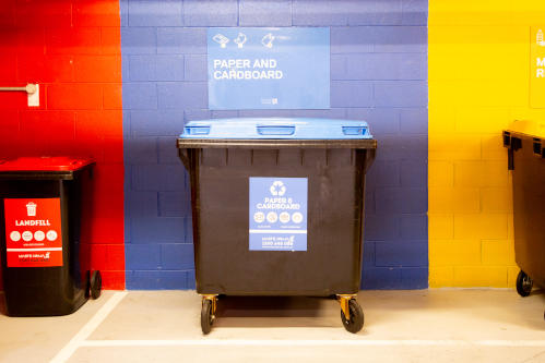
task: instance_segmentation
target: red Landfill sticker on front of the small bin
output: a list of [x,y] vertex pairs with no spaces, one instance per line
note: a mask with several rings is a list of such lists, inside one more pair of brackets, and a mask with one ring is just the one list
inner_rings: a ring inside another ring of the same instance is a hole
[[8,267],[62,266],[60,198],[4,199]]

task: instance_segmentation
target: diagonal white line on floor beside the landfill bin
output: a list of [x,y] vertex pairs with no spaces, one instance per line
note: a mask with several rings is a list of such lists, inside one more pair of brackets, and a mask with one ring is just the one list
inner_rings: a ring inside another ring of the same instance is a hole
[[95,315],[78,331],[75,336],[62,348],[50,361],[51,363],[66,362],[72,356],[78,348],[83,346],[93,331],[104,322],[111,311],[127,295],[127,291],[115,292],[111,298],[95,313]]

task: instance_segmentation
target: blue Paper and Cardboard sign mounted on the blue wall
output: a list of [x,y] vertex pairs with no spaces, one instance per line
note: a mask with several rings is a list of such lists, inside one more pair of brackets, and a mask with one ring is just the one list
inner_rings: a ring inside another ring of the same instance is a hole
[[209,108],[330,108],[327,27],[208,29]]

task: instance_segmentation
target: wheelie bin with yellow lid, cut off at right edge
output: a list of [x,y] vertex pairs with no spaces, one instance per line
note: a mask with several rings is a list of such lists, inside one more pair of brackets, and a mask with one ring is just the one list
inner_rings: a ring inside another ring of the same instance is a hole
[[503,131],[512,170],[517,291],[545,288],[545,122],[517,121]]

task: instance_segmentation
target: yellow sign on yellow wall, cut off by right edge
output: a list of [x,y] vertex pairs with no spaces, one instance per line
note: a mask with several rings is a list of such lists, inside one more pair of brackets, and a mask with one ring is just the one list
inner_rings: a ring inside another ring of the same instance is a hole
[[530,33],[530,106],[545,108],[545,25]]

